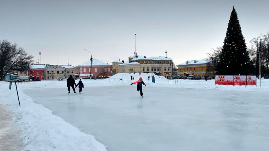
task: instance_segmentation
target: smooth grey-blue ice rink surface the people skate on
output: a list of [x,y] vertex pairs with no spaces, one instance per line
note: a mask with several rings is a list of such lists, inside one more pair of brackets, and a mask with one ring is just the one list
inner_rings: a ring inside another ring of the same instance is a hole
[[24,93],[108,151],[268,150],[267,92],[143,86],[141,98],[133,85]]

